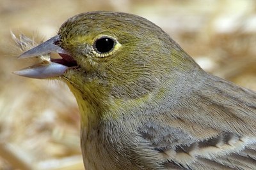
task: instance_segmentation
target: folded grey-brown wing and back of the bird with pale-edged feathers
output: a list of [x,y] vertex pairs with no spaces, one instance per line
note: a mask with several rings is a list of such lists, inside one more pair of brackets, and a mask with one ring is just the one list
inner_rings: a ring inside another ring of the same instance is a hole
[[209,75],[173,103],[139,129],[166,168],[256,169],[255,92]]

